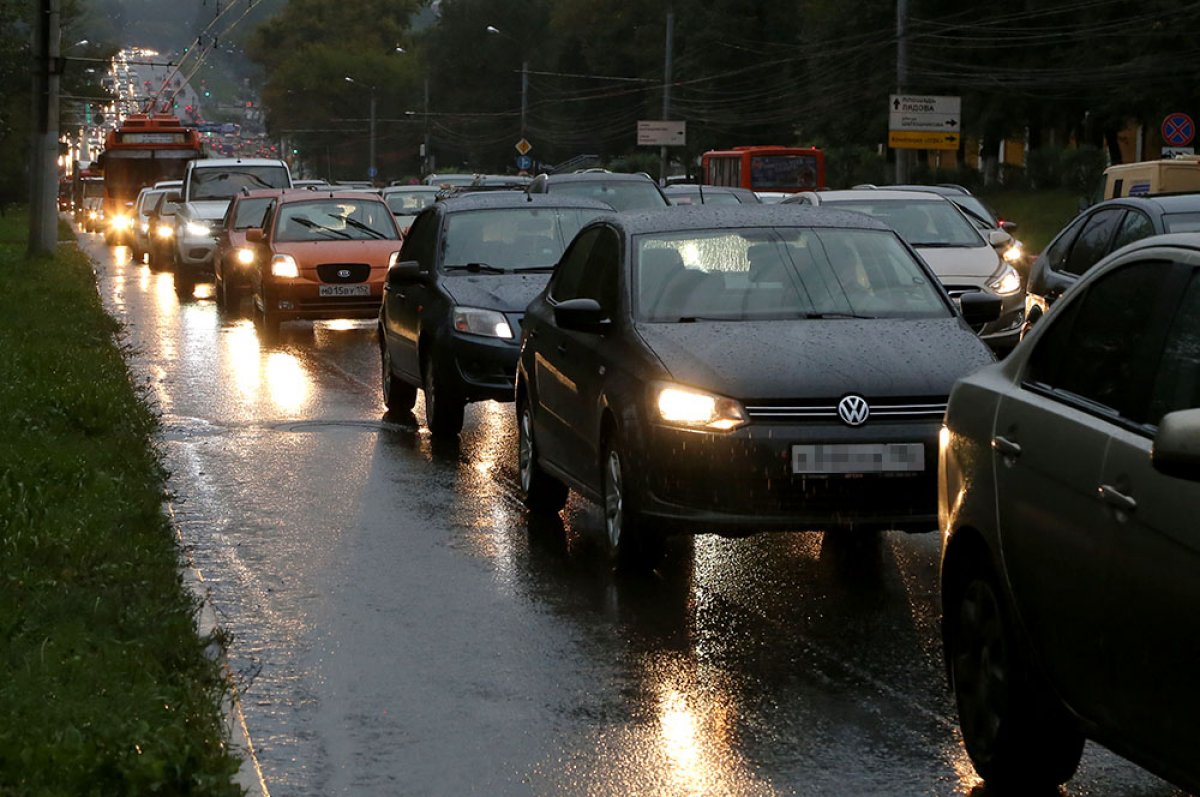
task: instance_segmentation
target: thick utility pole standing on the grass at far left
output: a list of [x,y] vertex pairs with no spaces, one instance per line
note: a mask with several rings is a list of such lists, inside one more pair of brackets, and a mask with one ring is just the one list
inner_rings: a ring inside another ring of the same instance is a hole
[[30,145],[29,254],[59,245],[59,0],[38,0],[34,20],[34,137]]

